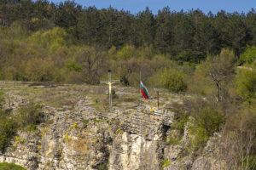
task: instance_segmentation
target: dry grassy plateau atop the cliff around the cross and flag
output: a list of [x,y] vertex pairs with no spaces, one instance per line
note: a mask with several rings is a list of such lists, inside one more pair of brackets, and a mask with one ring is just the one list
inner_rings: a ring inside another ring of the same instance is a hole
[[[32,82],[4,82],[0,83],[0,88],[12,95],[19,95],[26,100],[33,100],[41,105],[49,105],[56,108],[73,109],[79,99],[89,97],[89,105],[96,108],[97,111],[108,110],[108,86],[97,85],[91,86],[86,84],[64,84],[56,85],[54,88],[42,86],[29,86]],[[148,88],[150,101],[140,98],[140,92],[137,88],[123,87],[115,85],[113,87],[118,95],[117,99],[113,99],[113,108],[118,110],[134,109],[134,106],[142,102],[142,105],[157,105],[156,91]],[[160,109],[164,109],[166,105],[172,105],[172,102],[181,102],[186,96],[173,94],[166,89],[158,89],[160,93]]]

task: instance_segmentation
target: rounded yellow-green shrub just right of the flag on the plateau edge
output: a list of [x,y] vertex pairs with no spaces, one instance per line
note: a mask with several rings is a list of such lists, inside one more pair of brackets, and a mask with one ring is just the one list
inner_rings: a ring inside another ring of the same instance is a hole
[[162,87],[172,92],[184,92],[187,89],[183,74],[175,69],[166,69],[160,77],[160,82]]

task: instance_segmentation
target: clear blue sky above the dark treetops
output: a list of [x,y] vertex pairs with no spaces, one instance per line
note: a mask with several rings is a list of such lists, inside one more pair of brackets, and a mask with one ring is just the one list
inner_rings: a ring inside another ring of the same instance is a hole
[[[54,3],[60,3],[61,0],[51,0]],[[148,7],[154,14],[159,9],[169,6],[171,10],[187,11],[191,8],[199,8],[204,13],[212,11],[216,14],[221,9],[227,12],[242,11],[247,13],[251,8],[256,10],[256,0],[75,0],[83,7],[96,6],[96,8],[113,8],[129,10],[131,14],[137,14]]]

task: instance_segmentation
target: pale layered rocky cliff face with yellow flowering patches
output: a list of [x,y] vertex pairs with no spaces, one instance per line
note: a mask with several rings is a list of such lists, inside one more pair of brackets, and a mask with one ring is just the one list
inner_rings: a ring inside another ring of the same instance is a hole
[[[14,109],[26,103],[20,96],[11,96]],[[148,105],[125,111],[96,111],[90,105],[90,97],[84,97],[73,108],[43,105],[43,112],[46,122],[36,131],[19,131],[0,155],[0,162],[15,162],[32,170],[221,167],[212,155],[212,150],[216,150],[214,142],[207,145],[204,156],[184,153],[189,143],[186,127],[179,144],[166,142],[168,133],[175,134],[171,130],[175,121],[172,111],[156,110]]]

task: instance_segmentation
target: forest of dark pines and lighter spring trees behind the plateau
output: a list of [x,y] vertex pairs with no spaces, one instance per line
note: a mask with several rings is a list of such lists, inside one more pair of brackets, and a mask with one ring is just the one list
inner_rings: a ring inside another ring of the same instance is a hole
[[95,84],[111,68],[125,85],[137,84],[139,71],[151,87],[168,86],[155,79],[169,72],[188,84],[196,65],[221,50],[230,50],[237,66],[256,46],[253,8],[204,14],[166,7],[154,15],[148,8],[130,14],[74,1],[4,0],[0,26],[0,77],[6,80]]

